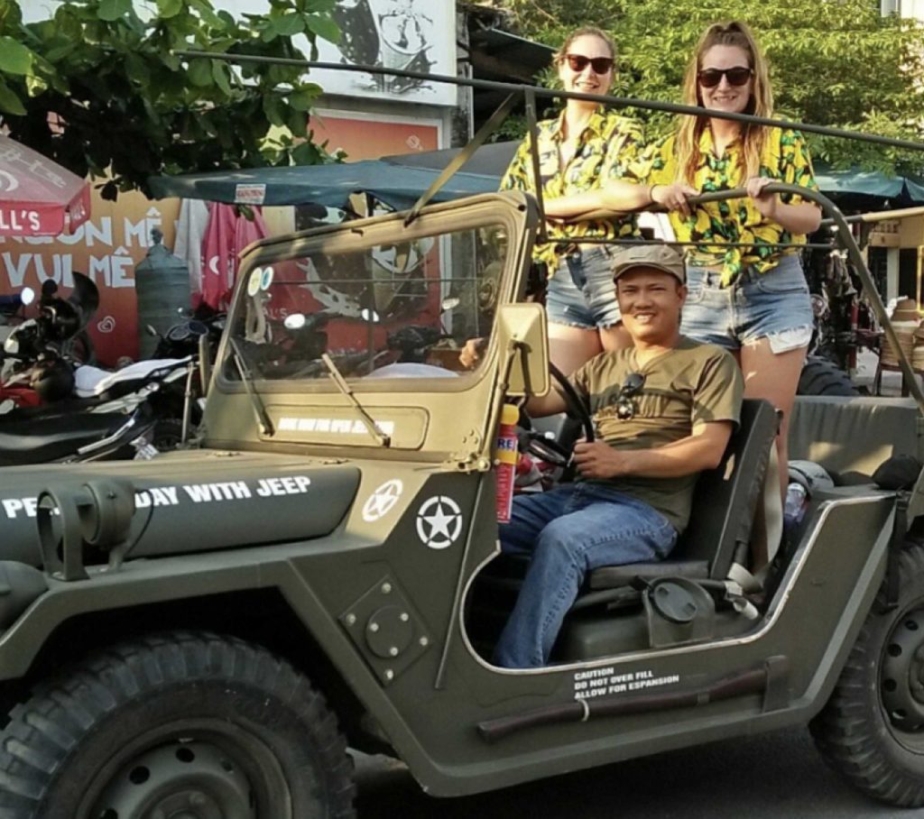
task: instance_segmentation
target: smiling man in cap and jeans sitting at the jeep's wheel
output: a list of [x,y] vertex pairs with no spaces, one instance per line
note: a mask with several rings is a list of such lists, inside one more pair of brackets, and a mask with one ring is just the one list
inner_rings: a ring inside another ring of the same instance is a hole
[[[494,662],[548,665],[562,621],[592,569],[663,560],[687,525],[699,472],[721,460],[743,389],[735,359],[680,334],[684,262],[673,248],[630,247],[614,257],[616,296],[634,346],[591,358],[570,377],[597,440],[575,447],[577,480],[518,495],[501,548],[531,556]],[[531,416],[565,411],[557,391]]]

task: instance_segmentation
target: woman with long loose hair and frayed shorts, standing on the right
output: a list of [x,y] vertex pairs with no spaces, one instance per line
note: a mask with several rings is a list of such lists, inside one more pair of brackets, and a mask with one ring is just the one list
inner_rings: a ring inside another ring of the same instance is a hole
[[[683,97],[724,113],[772,116],[767,63],[748,26],[730,22],[706,30],[687,67]],[[641,184],[611,183],[599,193],[550,202],[546,212],[574,219],[652,202],[671,211],[677,239],[690,247],[682,331],[729,349],[744,371],[745,396],[783,411],[777,453],[785,486],[788,418],[813,319],[798,249],[777,244],[804,244],[821,211],[807,199],[765,188],[786,182],[818,189],[805,140],[783,128],[687,116],[674,134],[649,146],[628,176]],[[734,187],[744,187],[748,199],[693,209],[687,203],[699,191]]]

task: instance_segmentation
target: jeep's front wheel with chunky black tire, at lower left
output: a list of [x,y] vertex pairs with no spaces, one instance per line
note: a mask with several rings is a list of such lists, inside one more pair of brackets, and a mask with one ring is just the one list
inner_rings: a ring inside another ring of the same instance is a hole
[[352,761],[308,680],[261,647],[175,632],[40,685],[0,734],[0,816],[342,819]]

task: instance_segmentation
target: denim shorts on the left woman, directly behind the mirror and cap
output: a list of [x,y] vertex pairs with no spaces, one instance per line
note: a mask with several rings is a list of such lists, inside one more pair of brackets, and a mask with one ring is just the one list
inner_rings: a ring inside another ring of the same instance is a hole
[[585,246],[559,259],[545,294],[545,312],[550,321],[584,330],[619,323],[614,252],[608,245]]

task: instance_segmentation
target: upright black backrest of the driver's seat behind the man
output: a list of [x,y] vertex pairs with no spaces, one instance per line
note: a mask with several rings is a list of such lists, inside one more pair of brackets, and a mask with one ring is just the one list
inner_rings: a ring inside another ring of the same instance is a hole
[[706,560],[709,576],[725,579],[737,544],[750,540],[778,428],[770,403],[758,399],[742,403],[741,422],[728,441],[722,463],[699,476],[687,529],[670,560]]

